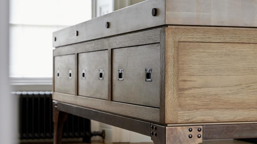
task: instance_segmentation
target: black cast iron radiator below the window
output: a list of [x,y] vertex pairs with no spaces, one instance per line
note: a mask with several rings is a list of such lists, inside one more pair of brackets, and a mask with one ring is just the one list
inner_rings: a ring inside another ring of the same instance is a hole
[[[20,139],[53,138],[52,92],[12,92],[20,97]],[[90,120],[68,115],[63,138],[83,138],[90,143]]]

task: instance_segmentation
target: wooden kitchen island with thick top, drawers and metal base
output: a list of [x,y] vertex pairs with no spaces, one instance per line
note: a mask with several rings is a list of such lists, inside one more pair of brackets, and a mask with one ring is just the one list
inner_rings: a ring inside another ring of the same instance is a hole
[[257,138],[257,1],[147,0],[53,33],[53,116],[155,144]]

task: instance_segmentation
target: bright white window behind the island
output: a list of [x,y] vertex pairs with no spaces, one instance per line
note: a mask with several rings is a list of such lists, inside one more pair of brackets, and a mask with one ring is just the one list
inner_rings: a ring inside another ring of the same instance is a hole
[[10,77],[52,77],[52,32],[91,15],[91,0],[10,0]]

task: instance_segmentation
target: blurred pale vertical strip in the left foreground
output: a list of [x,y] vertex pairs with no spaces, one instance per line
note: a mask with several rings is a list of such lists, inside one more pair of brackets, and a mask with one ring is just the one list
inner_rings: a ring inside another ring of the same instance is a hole
[[0,143],[14,144],[17,136],[13,97],[9,95],[9,0],[0,0]]

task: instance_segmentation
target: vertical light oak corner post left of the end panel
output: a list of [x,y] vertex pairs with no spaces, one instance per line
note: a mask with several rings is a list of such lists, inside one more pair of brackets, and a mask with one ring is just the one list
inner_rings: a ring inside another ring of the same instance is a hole
[[165,29],[165,123],[178,123],[178,31]]

